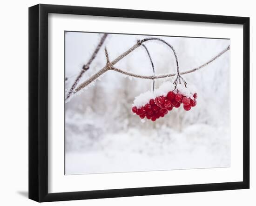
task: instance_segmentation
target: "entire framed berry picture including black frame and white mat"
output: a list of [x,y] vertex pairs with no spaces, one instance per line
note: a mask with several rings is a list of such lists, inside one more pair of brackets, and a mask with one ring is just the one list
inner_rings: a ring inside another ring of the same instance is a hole
[[46,4],[28,16],[29,199],[249,188],[248,17]]

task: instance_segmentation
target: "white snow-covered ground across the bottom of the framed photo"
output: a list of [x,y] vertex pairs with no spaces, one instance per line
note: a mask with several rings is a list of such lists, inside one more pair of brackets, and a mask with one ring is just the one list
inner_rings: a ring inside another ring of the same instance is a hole
[[109,133],[92,147],[66,153],[66,174],[227,167],[230,160],[229,133],[207,125],[189,126],[183,133]]

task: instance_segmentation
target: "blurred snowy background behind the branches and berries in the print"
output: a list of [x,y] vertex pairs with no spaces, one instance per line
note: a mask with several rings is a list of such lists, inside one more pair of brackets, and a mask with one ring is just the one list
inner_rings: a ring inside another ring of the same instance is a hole
[[[87,63],[102,34],[65,34],[66,91]],[[90,69],[79,83],[146,36],[109,34]],[[147,36],[148,37],[148,36]],[[152,37],[152,36],[150,36]],[[230,40],[159,37],[177,53],[180,71],[200,66],[220,53]],[[160,42],[145,43],[156,74],[175,73],[172,51]],[[174,109],[155,122],[133,115],[134,98],[152,89],[152,80],[128,78],[108,71],[93,86],[66,103],[65,173],[113,173],[230,166],[229,51],[206,67],[183,78],[196,88],[197,105],[190,111]],[[143,47],[115,67],[152,75]],[[156,80],[155,87],[174,78]]]

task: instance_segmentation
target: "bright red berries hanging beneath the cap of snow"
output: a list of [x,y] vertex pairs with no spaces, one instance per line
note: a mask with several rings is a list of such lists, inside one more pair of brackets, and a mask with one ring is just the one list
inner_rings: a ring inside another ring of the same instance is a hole
[[146,117],[148,120],[155,121],[160,117],[164,117],[173,107],[180,107],[181,104],[183,104],[184,110],[189,111],[191,107],[196,105],[197,94],[194,93],[193,97],[194,100],[181,93],[168,92],[167,96],[158,96],[155,100],[151,99],[149,103],[141,106],[141,108],[132,107],[132,111],[139,115],[141,119]]

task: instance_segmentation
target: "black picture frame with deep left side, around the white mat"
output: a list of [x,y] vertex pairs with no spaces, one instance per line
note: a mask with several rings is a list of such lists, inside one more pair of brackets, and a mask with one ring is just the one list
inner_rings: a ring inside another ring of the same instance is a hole
[[[243,181],[48,193],[48,13],[243,25]],[[249,188],[249,18],[39,4],[29,7],[29,199],[38,202]]]

